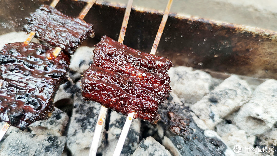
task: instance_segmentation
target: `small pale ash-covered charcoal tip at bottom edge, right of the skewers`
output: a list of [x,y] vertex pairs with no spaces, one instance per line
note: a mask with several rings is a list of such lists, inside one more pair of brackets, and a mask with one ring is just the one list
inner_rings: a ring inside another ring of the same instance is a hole
[[133,156],[171,156],[170,152],[153,137],[143,139]]

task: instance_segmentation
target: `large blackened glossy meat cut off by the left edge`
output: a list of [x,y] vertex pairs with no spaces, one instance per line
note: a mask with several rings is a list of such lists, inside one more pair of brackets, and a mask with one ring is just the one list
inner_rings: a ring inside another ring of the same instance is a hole
[[70,57],[52,48],[29,43],[6,44],[0,51],[0,121],[21,130],[48,119],[55,91],[66,77]]

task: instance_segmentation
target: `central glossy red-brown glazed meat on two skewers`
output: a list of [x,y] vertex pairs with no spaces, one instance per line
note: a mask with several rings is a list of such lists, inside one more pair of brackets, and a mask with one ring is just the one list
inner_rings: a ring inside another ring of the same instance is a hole
[[104,107],[134,118],[156,121],[158,106],[171,91],[165,57],[129,48],[107,36],[94,49],[94,62],[85,72],[82,94]]

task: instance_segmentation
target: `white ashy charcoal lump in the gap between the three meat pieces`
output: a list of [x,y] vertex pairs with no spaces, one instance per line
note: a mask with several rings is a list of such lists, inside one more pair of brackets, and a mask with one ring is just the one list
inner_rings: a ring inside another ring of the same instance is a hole
[[95,47],[81,46],[76,52],[71,55],[70,61],[70,78],[73,81],[79,80],[81,75],[88,69],[89,65],[93,63]]

